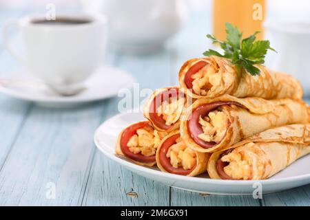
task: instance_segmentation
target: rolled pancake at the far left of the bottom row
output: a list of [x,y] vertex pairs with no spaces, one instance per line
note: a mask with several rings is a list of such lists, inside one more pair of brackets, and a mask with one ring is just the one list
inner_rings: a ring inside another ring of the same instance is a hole
[[166,135],[166,132],[156,131],[150,122],[136,122],[119,133],[115,153],[138,165],[154,166],[156,150]]

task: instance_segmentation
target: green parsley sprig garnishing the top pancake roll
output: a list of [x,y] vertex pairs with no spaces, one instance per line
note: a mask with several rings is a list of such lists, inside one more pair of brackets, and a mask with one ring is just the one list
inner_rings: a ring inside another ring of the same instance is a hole
[[237,27],[234,27],[231,23],[226,23],[225,26],[227,34],[226,41],[220,41],[214,35],[207,34],[207,38],[211,39],[213,43],[220,44],[220,47],[224,50],[224,54],[220,54],[215,50],[208,50],[203,55],[230,58],[231,63],[238,67],[243,67],[252,76],[259,75],[260,69],[254,65],[265,63],[267,50],[272,50],[273,52],[276,52],[276,50],[270,47],[269,41],[255,41],[256,34],[260,32],[255,32],[251,36],[242,39],[242,32]]

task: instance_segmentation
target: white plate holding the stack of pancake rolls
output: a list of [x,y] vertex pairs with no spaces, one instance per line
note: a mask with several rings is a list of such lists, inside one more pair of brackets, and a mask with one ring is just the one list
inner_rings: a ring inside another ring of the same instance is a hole
[[115,155],[114,144],[120,131],[129,124],[141,120],[144,120],[142,113],[118,114],[99,126],[94,135],[94,142],[106,157],[143,177],[184,190],[216,195],[253,195],[254,190],[260,186],[262,193],[270,193],[310,184],[310,155],[298,159],[277,175],[260,181],[209,179],[207,174],[186,177],[163,173],[158,168],[138,166],[130,160]]

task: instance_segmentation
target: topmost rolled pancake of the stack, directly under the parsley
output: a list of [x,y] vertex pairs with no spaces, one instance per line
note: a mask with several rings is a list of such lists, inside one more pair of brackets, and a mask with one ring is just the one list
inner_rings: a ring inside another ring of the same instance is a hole
[[251,76],[227,58],[194,58],[180,68],[178,81],[180,88],[193,98],[214,98],[224,94],[238,98],[302,98],[302,86],[296,78],[262,65],[255,66],[260,69],[260,75]]

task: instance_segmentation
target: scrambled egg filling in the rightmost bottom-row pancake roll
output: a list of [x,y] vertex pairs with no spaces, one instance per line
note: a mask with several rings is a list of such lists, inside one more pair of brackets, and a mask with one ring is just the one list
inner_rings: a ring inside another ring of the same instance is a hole
[[242,156],[241,152],[232,151],[224,155],[221,160],[229,162],[224,167],[224,172],[232,179],[249,179],[251,178],[251,164]]

